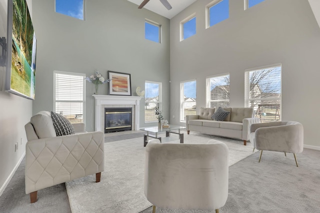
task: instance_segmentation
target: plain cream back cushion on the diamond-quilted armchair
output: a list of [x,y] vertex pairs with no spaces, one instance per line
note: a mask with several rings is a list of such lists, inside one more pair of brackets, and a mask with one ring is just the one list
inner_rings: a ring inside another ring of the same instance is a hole
[[30,123],[32,124],[38,138],[50,138],[56,136],[49,112],[40,111],[36,113],[31,117]]

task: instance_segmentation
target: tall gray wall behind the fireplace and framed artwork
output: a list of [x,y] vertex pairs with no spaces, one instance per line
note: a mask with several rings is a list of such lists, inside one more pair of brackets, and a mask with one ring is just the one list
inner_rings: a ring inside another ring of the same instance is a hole
[[[85,73],[98,69],[131,74],[132,95],[145,80],[162,82],[163,114],[169,115],[169,19],[138,9],[127,0],[86,0],[85,21],[54,12],[53,0],[33,0],[37,36],[33,114],[53,109],[53,71]],[[144,19],[162,25],[162,43],[144,39]],[[94,85],[86,82],[86,130],[94,130]],[[107,95],[107,84],[99,94]],[[144,124],[144,98],[140,126]],[[154,125],[154,124],[153,124]]]

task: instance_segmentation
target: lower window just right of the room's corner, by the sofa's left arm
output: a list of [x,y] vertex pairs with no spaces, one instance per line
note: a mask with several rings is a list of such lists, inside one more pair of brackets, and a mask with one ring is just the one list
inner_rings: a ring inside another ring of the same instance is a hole
[[196,81],[180,83],[180,122],[185,122],[186,115],[195,115]]

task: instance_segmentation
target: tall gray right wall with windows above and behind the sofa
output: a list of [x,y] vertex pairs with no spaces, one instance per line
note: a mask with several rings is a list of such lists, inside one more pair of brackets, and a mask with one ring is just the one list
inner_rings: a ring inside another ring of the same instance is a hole
[[[320,28],[308,1],[265,0],[243,10],[243,0],[229,0],[229,18],[205,29],[210,1],[197,0],[170,20],[171,123],[179,123],[180,81],[196,79],[199,111],[205,78],[229,72],[230,106],[244,107],[244,70],[281,63],[282,120],[301,122],[304,144],[319,148]],[[180,42],[179,22],[193,12],[196,34]]]

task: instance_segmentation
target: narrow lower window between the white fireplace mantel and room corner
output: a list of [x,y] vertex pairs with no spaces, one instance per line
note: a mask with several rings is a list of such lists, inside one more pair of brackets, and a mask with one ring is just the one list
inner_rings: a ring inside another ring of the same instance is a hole
[[161,110],[161,93],[162,83],[145,81],[145,105],[144,105],[144,122],[154,123],[157,122],[155,113],[155,107],[159,107]]

